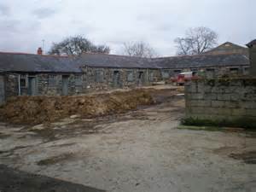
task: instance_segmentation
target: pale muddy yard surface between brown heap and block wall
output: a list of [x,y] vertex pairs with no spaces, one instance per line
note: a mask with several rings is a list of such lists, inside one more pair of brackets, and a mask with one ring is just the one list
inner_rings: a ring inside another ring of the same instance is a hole
[[0,164],[109,192],[255,191],[255,132],[177,129],[183,96],[152,96],[127,113],[2,123]]

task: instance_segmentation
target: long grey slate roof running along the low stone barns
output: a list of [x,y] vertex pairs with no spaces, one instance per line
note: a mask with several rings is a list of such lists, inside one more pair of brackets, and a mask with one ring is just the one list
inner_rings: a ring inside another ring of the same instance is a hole
[[185,68],[249,65],[246,55],[193,55],[146,59],[122,55],[84,54],[79,57],[0,53],[0,72],[81,73],[81,67]]

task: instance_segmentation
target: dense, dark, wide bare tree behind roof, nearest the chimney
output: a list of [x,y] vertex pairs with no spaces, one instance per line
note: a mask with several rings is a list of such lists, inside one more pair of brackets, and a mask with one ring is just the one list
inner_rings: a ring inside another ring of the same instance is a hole
[[65,38],[60,43],[53,43],[49,55],[81,55],[82,53],[109,54],[110,48],[105,45],[95,45],[83,36]]

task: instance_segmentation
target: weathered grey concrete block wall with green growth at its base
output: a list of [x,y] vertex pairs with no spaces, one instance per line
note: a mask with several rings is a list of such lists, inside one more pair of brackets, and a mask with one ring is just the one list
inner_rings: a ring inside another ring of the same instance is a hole
[[256,79],[197,79],[185,85],[186,119],[256,126]]

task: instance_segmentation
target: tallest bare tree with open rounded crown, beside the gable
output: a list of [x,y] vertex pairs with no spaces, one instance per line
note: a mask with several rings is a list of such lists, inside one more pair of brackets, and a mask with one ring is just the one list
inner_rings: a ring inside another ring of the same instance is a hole
[[174,40],[177,55],[199,55],[212,49],[217,44],[218,34],[211,29],[200,26],[190,28],[184,38]]

